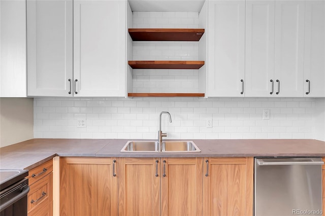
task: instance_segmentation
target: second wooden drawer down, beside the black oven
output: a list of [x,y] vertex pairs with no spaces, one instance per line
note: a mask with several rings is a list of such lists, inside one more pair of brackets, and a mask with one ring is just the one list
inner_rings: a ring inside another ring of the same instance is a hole
[[52,185],[53,185],[53,174],[50,173],[40,181],[29,186],[30,190],[27,195],[27,211],[29,215],[31,211],[34,211],[36,208],[49,208],[50,203],[52,203]]

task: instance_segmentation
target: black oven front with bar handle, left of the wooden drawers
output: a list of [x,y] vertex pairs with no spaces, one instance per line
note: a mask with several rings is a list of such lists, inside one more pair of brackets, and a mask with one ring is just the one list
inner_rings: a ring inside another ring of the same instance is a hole
[[0,216],[27,216],[28,179],[0,192]]

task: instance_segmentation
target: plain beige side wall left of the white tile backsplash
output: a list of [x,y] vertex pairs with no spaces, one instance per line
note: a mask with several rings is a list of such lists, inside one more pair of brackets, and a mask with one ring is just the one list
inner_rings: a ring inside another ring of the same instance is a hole
[[34,138],[33,98],[0,98],[0,147]]

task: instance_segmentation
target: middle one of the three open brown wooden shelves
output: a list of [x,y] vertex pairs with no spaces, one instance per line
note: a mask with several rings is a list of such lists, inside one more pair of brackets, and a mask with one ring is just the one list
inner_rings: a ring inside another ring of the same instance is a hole
[[199,69],[204,61],[128,61],[133,69]]

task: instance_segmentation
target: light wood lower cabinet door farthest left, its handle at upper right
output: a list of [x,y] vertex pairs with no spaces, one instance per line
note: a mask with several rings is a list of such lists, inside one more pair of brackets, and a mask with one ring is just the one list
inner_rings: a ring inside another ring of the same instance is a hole
[[60,215],[117,215],[116,166],[114,158],[60,158]]

